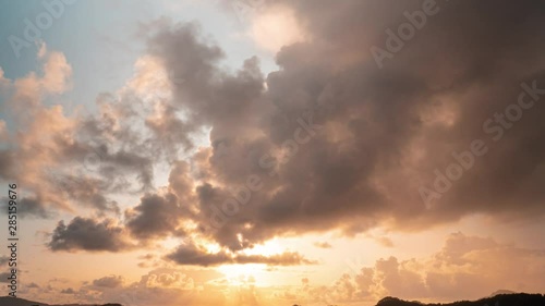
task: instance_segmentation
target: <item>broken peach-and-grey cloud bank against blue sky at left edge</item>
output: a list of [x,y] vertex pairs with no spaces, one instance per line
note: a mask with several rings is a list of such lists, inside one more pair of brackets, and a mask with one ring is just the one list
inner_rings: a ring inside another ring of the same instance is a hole
[[[23,200],[27,200],[27,210],[32,211],[26,216],[49,218],[56,210],[74,212],[80,207],[99,215],[118,215],[120,211],[111,199],[112,194],[153,188],[154,161],[160,162],[158,157],[171,157],[181,146],[190,147],[191,144],[144,135],[154,131],[157,135],[166,135],[169,131],[161,127],[162,122],[154,119],[153,112],[146,127],[138,113],[146,97],[131,86],[119,95],[98,95],[96,115],[81,113],[77,109],[70,112],[55,103],[71,88],[72,70],[62,53],[44,48],[39,61],[41,75],[33,72],[11,81],[4,78],[2,72],[2,86],[5,83],[2,95],[7,96],[13,126],[4,128],[3,121],[0,124],[1,137],[8,140],[7,146],[0,148],[1,163],[5,163],[0,178],[25,186],[28,198]],[[154,68],[136,71],[129,85],[138,83],[144,87],[150,83],[153,79],[143,75],[153,74]],[[160,71],[155,72],[160,74]],[[53,102],[45,103],[46,100]]]

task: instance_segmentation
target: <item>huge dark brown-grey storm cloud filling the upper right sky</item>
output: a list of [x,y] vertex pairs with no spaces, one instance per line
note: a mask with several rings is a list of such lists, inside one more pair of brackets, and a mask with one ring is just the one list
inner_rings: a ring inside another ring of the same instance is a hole
[[[291,8],[310,37],[278,52],[280,70],[266,77],[267,90],[253,62],[239,76],[226,75],[221,52],[195,38],[194,27],[158,30],[152,53],[187,79],[174,102],[211,125],[213,144],[223,144],[207,160],[199,156],[197,166],[221,184],[197,188],[196,220],[210,224],[229,189],[250,175],[264,183],[235,213],[223,213],[221,229],[208,229],[210,237],[237,250],[287,232],[420,228],[477,211],[543,215],[545,108],[536,103],[498,143],[483,131],[488,118],[517,102],[522,82],[545,88],[543,3],[436,1],[438,13],[380,69],[371,48],[386,48],[387,29],[398,30],[408,22],[403,12],[422,3],[267,2],[263,10]],[[259,157],[292,138],[308,111],[323,128],[282,163],[271,158],[276,175],[267,175]],[[476,138],[489,154],[426,207],[419,188]]]

